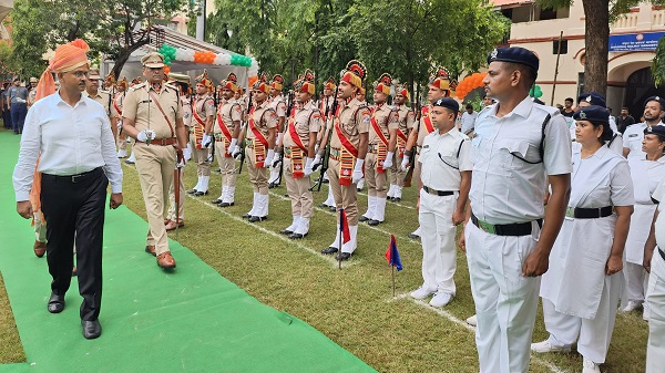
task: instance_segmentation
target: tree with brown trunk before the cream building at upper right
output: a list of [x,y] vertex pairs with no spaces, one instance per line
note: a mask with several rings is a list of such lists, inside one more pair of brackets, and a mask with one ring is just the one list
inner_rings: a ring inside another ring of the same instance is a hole
[[[566,8],[573,0],[536,0],[543,8]],[[640,0],[582,0],[584,7],[584,41],[586,62],[584,64],[584,91],[606,95],[607,91],[607,51],[610,43],[610,22],[627,13]],[[653,4],[664,4],[664,0],[651,0]]]

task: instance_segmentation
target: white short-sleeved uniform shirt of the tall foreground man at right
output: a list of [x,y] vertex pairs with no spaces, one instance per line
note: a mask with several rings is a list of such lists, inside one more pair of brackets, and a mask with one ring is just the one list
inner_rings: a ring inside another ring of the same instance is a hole
[[[534,104],[531,97],[508,115],[497,117],[499,105],[485,107],[475,121],[471,159],[471,209],[483,221],[512,224],[544,216],[542,204],[546,175],[571,173],[571,136],[555,107]],[[545,127],[544,159],[540,158],[542,124]],[[525,158],[529,164],[515,156]]]

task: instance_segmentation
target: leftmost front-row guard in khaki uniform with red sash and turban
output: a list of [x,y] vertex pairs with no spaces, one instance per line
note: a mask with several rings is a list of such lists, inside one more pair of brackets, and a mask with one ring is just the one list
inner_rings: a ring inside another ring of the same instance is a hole
[[207,195],[207,187],[211,180],[211,162],[208,160],[208,146],[213,142],[213,122],[215,121],[215,100],[209,95],[211,80],[207,72],[198,76],[195,91],[196,99],[192,104],[192,126],[190,127],[190,144],[192,145],[192,156],[196,163],[196,175],[198,182],[196,186],[187,190],[187,194],[194,196]]

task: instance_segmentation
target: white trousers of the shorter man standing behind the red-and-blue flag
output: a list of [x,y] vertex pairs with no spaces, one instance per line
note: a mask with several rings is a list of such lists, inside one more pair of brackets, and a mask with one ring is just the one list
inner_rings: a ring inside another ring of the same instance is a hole
[[458,195],[434,196],[420,189],[420,222],[422,242],[422,280],[428,290],[456,293],[457,270],[456,226],[452,213]]

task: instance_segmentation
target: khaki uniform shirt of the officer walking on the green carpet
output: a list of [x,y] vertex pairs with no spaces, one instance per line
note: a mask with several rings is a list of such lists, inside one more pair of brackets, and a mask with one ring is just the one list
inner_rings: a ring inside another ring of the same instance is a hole
[[[149,92],[155,94],[164,114]],[[175,137],[176,120],[183,118],[183,105],[178,100],[176,87],[162,84],[162,89],[157,93],[147,83],[142,83],[129,90],[122,116],[134,120],[137,131],[153,129],[157,139],[170,138]]]

